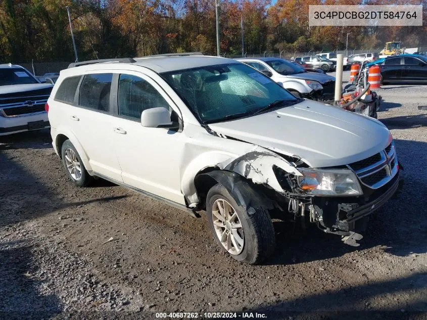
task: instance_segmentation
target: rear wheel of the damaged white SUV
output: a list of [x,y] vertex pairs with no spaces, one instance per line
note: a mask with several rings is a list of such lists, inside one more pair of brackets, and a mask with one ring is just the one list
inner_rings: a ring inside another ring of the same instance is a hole
[[74,148],[70,140],[66,140],[63,143],[61,148],[61,157],[65,171],[75,185],[79,187],[86,187],[90,184],[92,177],[87,173],[76,148]]

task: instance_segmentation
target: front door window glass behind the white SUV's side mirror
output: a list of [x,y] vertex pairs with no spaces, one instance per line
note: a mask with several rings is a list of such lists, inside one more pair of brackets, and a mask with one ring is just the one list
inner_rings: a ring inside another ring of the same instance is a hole
[[119,115],[139,121],[144,110],[164,107],[169,104],[162,95],[143,78],[121,74],[119,78]]

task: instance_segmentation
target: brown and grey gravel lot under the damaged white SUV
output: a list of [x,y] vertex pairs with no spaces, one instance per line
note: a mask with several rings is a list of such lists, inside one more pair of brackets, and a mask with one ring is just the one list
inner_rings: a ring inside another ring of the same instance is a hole
[[259,266],[219,250],[203,215],[103,180],[73,186],[48,131],[0,137],[0,318],[427,318],[427,111],[417,109],[426,88],[377,90],[405,186],[360,247],[275,221],[275,255]]

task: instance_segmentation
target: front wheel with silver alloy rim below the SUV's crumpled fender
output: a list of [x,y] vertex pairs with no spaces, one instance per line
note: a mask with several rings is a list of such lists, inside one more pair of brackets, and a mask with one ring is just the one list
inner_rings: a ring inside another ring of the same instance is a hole
[[208,192],[206,210],[215,241],[233,259],[257,264],[274,252],[275,233],[267,209],[248,212],[217,184]]

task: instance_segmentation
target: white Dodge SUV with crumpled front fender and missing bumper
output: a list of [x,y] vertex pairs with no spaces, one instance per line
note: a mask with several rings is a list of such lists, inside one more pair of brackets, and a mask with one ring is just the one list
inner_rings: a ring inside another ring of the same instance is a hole
[[399,185],[381,122],[296,98],[231,59],[71,67],[48,104],[53,146],[76,185],[98,176],[192,214],[206,210],[218,245],[242,262],[273,253],[271,211],[358,245],[358,222]]

